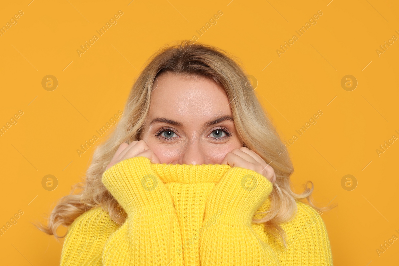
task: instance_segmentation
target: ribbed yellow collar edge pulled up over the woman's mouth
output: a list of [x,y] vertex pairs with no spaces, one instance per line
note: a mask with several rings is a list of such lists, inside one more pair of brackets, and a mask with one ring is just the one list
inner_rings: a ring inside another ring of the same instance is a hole
[[227,164],[151,164],[152,170],[165,183],[217,182],[231,168]]

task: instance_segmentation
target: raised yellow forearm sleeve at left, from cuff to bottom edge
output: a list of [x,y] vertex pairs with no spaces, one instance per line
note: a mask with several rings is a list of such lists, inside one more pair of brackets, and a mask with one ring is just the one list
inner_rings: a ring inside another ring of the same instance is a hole
[[103,265],[184,265],[172,197],[150,159],[123,160],[107,169],[101,181],[127,214],[104,246]]

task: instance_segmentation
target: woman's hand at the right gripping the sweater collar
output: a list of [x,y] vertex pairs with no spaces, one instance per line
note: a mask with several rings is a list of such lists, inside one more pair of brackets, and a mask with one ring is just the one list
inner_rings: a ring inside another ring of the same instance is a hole
[[246,147],[228,152],[221,164],[253,170],[265,176],[272,183],[277,179],[273,167],[268,165],[261,156]]

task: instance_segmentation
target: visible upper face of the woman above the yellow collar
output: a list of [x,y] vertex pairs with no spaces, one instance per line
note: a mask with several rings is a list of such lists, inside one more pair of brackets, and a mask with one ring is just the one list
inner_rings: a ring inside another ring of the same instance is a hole
[[162,164],[220,164],[228,152],[243,147],[230,102],[209,79],[168,72],[155,79],[152,90],[140,140]]

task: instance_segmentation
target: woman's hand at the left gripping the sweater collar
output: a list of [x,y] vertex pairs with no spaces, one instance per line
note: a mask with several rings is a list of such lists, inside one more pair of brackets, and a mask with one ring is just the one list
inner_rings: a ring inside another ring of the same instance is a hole
[[148,147],[148,145],[144,140],[135,140],[130,144],[127,143],[120,144],[117,152],[115,152],[114,157],[112,158],[111,162],[107,165],[107,168],[105,170],[123,160],[138,156],[144,156],[150,159],[152,164],[161,163],[158,156],[154,154],[154,152],[150,149],[150,147]]

